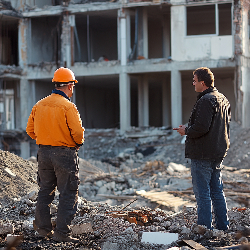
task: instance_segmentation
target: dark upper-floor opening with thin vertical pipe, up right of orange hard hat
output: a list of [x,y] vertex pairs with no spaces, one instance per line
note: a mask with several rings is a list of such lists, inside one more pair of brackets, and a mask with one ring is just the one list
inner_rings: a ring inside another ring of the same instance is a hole
[[117,60],[117,13],[76,15],[75,62]]

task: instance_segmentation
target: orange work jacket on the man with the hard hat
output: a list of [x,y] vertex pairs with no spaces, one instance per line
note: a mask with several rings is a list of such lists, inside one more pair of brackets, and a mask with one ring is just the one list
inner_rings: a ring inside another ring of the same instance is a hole
[[38,145],[79,147],[84,142],[84,128],[75,104],[55,93],[34,105],[26,132]]

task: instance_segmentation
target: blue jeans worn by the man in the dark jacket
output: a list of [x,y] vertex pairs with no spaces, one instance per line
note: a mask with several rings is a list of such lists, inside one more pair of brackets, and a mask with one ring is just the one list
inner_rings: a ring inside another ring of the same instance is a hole
[[198,225],[212,229],[212,205],[215,225],[219,230],[227,230],[226,198],[223,192],[221,160],[191,159],[193,191],[197,201]]

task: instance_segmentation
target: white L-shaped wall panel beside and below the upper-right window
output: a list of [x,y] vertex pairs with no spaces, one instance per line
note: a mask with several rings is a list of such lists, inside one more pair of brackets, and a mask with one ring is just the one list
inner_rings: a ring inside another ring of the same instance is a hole
[[186,36],[186,7],[172,6],[172,60],[192,61],[233,58],[233,36]]

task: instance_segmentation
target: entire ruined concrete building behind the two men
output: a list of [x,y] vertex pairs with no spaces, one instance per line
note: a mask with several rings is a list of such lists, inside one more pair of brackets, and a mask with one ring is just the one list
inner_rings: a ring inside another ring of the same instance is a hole
[[28,116],[61,66],[79,82],[72,101],[86,129],[186,123],[201,66],[250,127],[248,11],[240,0],[0,1],[2,149],[36,154]]

